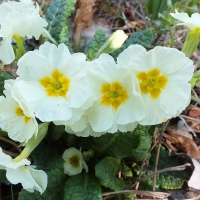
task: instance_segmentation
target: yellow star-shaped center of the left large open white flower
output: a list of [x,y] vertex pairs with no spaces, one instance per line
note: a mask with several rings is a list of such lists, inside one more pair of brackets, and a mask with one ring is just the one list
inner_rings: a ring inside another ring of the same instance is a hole
[[47,96],[66,98],[70,80],[56,69],[52,72],[51,77],[47,76],[40,79],[40,84],[46,88]]

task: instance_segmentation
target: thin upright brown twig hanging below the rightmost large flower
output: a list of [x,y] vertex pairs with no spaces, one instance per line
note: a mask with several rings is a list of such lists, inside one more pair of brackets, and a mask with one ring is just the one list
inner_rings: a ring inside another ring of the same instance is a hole
[[[159,141],[158,141],[158,150],[157,150],[157,154],[156,154],[156,162],[155,162],[154,172],[157,172],[157,169],[158,169],[158,160],[159,160],[159,156],[160,156],[162,136],[163,136],[163,133],[164,133],[168,123],[169,123],[169,120],[162,124],[162,130],[161,130]],[[156,189],[156,174],[154,175],[154,178],[153,178],[153,191],[155,191],[155,189]]]

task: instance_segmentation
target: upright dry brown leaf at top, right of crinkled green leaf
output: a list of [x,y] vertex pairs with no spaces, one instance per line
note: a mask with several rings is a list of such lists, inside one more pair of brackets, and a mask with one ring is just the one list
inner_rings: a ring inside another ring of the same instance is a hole
[[74,35],[76,43],[79,44],[81,31],[91,26],[93,14],[96,11],[94,0],[79,0],[78,10],[74,21]]

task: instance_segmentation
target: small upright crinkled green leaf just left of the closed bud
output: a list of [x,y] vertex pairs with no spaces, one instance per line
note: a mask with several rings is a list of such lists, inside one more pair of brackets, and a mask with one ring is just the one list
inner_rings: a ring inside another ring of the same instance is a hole
[[99,49],[105,43],[105,41],[106,31],[104,29],[97,30],[86,51],[87,60],[95,59]]

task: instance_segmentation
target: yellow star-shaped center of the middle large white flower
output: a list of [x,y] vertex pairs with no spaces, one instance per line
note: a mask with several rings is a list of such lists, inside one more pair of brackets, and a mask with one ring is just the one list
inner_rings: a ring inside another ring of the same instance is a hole
[[115,110],[129,98],[127,91],[118,82],[103,84],[101,86],[101,93],[103,94],[101,104],[106,106],[112,105]]

